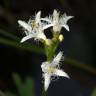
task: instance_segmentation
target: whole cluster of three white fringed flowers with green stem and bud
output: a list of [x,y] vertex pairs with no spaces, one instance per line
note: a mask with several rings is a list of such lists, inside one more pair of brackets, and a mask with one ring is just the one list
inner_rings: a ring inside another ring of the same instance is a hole
[[[41,68],[44,78],[44,89],[47,91],[49,84],[54,76],[62,76],[69,78],[68,74],[60,69],[59,64],[63,57],[63,52],[59,52],[55,56],[56,48],[58,44],[63,41],[63,35],[60,33],[62,27],[67,31],[69,26],[68,20],[73,16],[67,16],[66,13],[60,15],[57,10],[53,11],[52,15],[42,18],[41,11],[37,12],[34,19],[29,19],[28,22],[18,20],[18,23],[24,29],[25,37],[22,38],[21,43],[28,39],[39,40],[44,44],[47,60],[42,62]],[[44,34],[46,29],[52,27],[53,37],[47,38]]]

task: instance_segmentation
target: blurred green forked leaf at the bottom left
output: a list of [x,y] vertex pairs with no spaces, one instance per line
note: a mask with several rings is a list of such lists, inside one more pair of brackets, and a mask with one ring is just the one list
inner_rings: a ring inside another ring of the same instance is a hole
[[23,82],[21,77],[14,73],[13,79],[20,96],[34,96],[34,82],[31,77],[27,77]]

